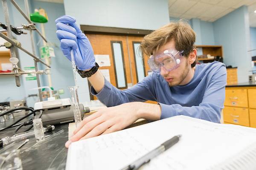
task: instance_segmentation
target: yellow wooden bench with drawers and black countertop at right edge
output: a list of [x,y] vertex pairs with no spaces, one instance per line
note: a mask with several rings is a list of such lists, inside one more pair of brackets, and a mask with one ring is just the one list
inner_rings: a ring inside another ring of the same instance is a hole
[[256,83],[244,82],[226,86],[224,123],[256,127]]

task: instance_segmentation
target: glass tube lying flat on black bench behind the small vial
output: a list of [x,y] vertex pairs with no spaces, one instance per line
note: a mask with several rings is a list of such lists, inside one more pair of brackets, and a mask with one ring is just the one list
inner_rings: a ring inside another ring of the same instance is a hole
[[[51,125],[51,127],[50,126],[44,127],[44,132],[52,131],[54,129],[55,129],[55,127],[53,125]],[[23,132],[23,133],[17,133],[11,137],[6,136],[6,137],[2,138],[1,140],[3,141],[3,145],[6,145],[11,142],[16,142],[16,141],[20,141],[22,139],[29,138],[31,136],[35,136],[34,130],[29,130],[29,131]]]

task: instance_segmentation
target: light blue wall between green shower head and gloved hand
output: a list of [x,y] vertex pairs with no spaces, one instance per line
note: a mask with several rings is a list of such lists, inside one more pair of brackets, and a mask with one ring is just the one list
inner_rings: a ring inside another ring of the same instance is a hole
[[[44,24],[44,29],[46,33],[47,40],[55,44],[52,46],[54,48],[55,56],[52,57],[52,64],[51,64],[51,78],[52,78],[52,86],[54,90],[64,89],[64,94],[61,94],[61,98],[69,98],[70,92],[68,90],[68,86],[74,85],[73,81],[73,72],[70,61],[63,55],[60,49],[60,42],[56,36],[56,26],[55,26],[55,19],[64,15],[64,4],[61,3],[46,3],[42,1],[32,1],[32,9],[35,8],[44,8],[48,15],[48,22]],[[38,29],[41,31],[41,24],[38,23]],[[43,42],[41,37],[36,34],[36,42],[40,42],[37,45],[37,54],[39,55],[39,48],[43,46]],[[45,68],[44,65],[41,63],[39,64],[40,68]],[[47,75],[42,75],[42,86],[49,86]]]

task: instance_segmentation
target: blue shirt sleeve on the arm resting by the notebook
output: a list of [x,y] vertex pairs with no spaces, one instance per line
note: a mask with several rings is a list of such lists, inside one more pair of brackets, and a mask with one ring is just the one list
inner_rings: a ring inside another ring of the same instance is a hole
[[224,108],[225,86],[227,80],[227,70],[222,65],[212,76],[204,97],[199,106],[183,107],[179,104],[161,105],[161,118],[185,115],[211,122],[220,122],[221,110]]

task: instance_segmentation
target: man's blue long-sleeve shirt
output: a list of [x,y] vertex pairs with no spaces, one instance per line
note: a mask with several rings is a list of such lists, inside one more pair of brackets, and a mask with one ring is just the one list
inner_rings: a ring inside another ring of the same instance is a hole
[[105,79],[97,94],[106,106],[126,102],[156,101],[161,105],[161,118],[185,115],[211,122],[220,122],[224,108],[226,67],[221,62],[196,65],[192,80],[186,85],[170,87],[160,74],[150,74],[131,88],[119,90]]

